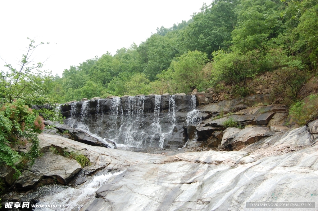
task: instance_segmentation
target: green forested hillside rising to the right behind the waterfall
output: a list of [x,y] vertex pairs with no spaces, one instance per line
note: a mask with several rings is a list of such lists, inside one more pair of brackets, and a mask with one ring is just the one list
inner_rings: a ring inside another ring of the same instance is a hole
[[[192,19],[157,28],[139,46],[106,52],[50,77],[56,102],[109,95],[187,93],[220,81],[246,93],[265,71],[306,76],[317,70],[316,0],[218,0]],[[128,35],[129,36],[129,35]],[[106,51],[107,49],[105,49]]]

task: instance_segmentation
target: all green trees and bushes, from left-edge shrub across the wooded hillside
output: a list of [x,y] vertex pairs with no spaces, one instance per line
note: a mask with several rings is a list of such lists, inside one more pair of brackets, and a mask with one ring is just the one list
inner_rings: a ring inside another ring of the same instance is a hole
[[[129,35],[127,35],[129,36]],[[0,162],[12,167],[14,149],[27,138],[34,145],[25,157],[38,156],[37,134],[44,128],[32,105],[81,98],[136,94],[188,93],[194,89],[250,93],[248,80],[275,72],[290,105],[299,105],[299,87],[317,73],[317,0],[216,0],[170,28],[157,28],[137,46],[118,49],[65,69],[63,76],[32,63],[32,52],[46,43],[30,40],[20,67],[0,72]],[[223,83],[220,83],[223,82]],[[31,140],[31,141],[30,141]],[[10,147],[11,146],[11,147]]]

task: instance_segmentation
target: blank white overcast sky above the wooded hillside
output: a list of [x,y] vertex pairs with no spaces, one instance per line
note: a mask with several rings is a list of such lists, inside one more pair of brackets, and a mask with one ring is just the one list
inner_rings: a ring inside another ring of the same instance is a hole
[[[1,1],[0,56],[17,66],[29,44],[49,42],[35,52],[35,60],[45,62],[45,69],[62,76],[71,65],[101,56],[109,51],[139,45],[156,28],[189,20],[203,2],[161,1]],[[4,62],[0,61],[3,70]]]

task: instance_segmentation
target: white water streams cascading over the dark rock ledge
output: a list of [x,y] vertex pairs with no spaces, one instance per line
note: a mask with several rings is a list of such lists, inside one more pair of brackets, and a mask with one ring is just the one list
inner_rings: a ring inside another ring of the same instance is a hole
[[[91,118],[89,114],[90,101],[82,103],[79,116],[77,116],[78,114],[75,115],[79,105],[73,103],[71,116],[66,120],[66,124],[84,130],[101,142],[107,142],[106,139],[109,139],[120,148],[163,148],[165,139],[169,137],[169,134],[172,134],[174,127],[177,125],[175,96],[170,95],[169,98],[162,98],[162,96],[156,95],[154,98],[154,114],[145,111],[145,96],[115,97],[110,102],[97,100],[96,117],[93,123],[88,121]],[[166,100],[169,99],[169,108],[167,108],[168,115],[163,115],[161,120],[162,99],[165,99],[164,103],[167,103]],[[125,109],[123,109],[123,103],[125,103]],[[149,105],[149,102],[147,103]],[[103,110],[107,105],[109,105],[109,112],[106,115]],[[187,124],[195,124],[199,121],[199,112],[195,108],[196,98],[191,96],[191,111],[187,115]]]

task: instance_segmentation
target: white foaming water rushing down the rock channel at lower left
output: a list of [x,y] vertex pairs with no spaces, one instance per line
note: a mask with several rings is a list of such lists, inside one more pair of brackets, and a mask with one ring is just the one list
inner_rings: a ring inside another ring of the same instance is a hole
[[[65,211],[71,210],[79,210],[82,208],[86,203],[88,203],[92,198],[95,197],[96,191],[102,185],[107,183],[107,181],[116,175],[120,175],[121,172],[115,172],[113,174],[105,174],[105,175],[98,175],[93,177],[88,177],[89,179],[81,185],[79,188],[71,188],[65,186],[65,188],[61,188],[60,192],[55,193],[54,195],[49,195],[46,197],[42,197],[39,199],[38,204],[66,204],[66,208],[63,208]],[[51,185],[52,186],[52,185]],[[43,186],[38,188],[37,191],[44,192],[50,185]],[[52,187],[53,188],[53,187]],[[48,190],[46,190],[48,191]],[[54,191],[55,192],[55,191]],[[43,210],[56,210],[60,211],[61,208],[36,208],[36,211],[43,211]]]

